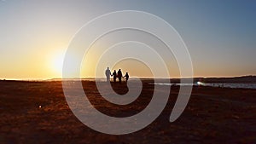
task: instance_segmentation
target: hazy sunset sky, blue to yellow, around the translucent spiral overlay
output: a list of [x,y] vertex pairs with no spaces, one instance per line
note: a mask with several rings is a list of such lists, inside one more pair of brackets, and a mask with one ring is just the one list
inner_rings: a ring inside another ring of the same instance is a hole
[[[2,0],[0,79],[61,78],[74,34],[97,16],[119,10],[148,12],[172,25],[189,49],[194,77],[256,75],[255,9],[250,0]],[[173,61],[167,66],[170,77],[177,78]],[[81,77],[95,76],[92,64],[81,64]],[[118,68],[131,76],[152,77],[152,67],[138,60],[120,60],[111,70]]]

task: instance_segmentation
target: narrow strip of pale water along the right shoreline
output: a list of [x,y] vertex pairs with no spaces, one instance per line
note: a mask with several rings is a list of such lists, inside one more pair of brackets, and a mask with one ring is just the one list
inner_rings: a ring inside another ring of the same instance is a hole
[[243,89],[256,89],[256,84],[242,84],[242,83],[195,83],[195,84],[167,84],[167,83],[154,83],[157,85],[182,85],[182,86],[211,86],[221,88],[243,88]]

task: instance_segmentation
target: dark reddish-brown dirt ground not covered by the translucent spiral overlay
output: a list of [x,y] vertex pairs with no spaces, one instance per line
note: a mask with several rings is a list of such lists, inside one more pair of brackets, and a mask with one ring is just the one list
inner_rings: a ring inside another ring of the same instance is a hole
[[[113,117],[127,117],[147,107],[154,85],[143,82],[139,98],[126,106],[105,101],[95,82],[84,81],[90,102]],[[119,94],[125,84],[113,84]],[[143,130],[107,135],[82,124],[67,106],[61,82],[0,81],[0,143],[256,143],[256,89],[194,87],[189,104],[175,122],[169,117],[177,99],[172,87],[160,117]]]

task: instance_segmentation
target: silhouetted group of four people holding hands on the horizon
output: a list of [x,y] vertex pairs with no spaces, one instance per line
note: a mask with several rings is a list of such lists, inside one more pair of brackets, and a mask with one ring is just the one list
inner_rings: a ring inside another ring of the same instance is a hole
[[121,69],[119,69],[118,72],[116,72],[115,70],[113,71],[113,73],[111,74],[111,71],[109,70],[109,67],[107,67],[107,70],[105,72],[105,75],[107,77],[107,82],[110,82],[110,76],[113,77],[113,82],[116,82],[116,78],[119,78],[119,83],[122,83],[122,78],[125,78],[126,82],[129,79],[129,74],[128,72],[125,73],[125,76],[123,77],[123,73],[121,71]]

